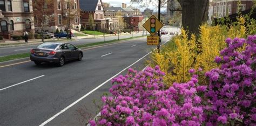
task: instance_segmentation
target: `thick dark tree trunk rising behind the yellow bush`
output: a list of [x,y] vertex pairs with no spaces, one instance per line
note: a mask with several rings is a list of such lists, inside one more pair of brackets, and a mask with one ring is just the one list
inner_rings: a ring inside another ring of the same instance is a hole
[[182,8],[182,25],[190,33],[199,33],[199,26],[207,21],[209,0],[178,0]]

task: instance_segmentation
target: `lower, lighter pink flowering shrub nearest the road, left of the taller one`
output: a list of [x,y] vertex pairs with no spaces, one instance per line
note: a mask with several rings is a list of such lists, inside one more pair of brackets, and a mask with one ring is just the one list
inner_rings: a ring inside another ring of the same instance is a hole
[[97,123],[91,125],[200,125],[203,122],[201,97],[206,86],[196,86],[197,78],[187,83],[173,83],[165,89],[164,73],[159,66],[144,72],[129,69],[125,76],[113,79],[113,97],[102,97],[105,103]]

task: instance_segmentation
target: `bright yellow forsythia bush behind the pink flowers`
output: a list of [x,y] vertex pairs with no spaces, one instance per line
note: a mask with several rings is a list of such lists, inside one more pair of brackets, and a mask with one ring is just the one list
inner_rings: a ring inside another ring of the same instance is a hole
[[[153,51],[151,60],[147,62],[150,66],[159,65],[161,71],[166,73],[164,80],[167,85],[187,82],[191,78],[188,73],[191,68],[201,68],[204,73],[218,67],[214,58],[226,47],[226,38],[245,38],[248,34],[255,33],[255,20],[251,20],[247,27],[245,22],[246,19],[240,17],[238,22],[230,26],[204,24],[199,28],[198,38],[192,34],[191,39],[188,39],[187,32],[182,29],[179,36],[173,37],[167,45],[161,47],[160,53]],[[203,74],[199,78],[204,80]],[[200,85],[204,85],[204,81]]]

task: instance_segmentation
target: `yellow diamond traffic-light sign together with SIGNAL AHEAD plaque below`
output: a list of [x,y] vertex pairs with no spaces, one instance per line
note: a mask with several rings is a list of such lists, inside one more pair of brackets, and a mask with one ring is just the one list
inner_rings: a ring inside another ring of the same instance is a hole
[[[156,16],[152,15],[144,24],[143,27],[151,34],[151,36],[147,37],[147,45],[157,45],[159,49],[159,30],[164,25],[156,18]],[[158,32],[158,36],[155,34]]]

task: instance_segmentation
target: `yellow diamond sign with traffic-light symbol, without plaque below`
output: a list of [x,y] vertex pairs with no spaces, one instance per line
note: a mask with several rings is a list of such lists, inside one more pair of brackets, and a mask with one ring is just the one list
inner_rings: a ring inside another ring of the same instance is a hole
[[164,25],[154,16],[152,15],[144,24],[143,27],[150,32],[151,36],[154,36],[161,27]]

